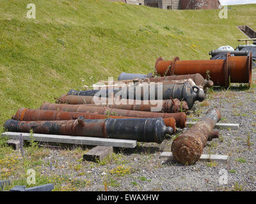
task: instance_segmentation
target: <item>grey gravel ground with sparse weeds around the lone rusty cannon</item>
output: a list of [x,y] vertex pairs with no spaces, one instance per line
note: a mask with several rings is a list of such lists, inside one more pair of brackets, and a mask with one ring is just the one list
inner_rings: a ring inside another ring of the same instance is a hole
[[[255,74],[253,70],[254,81]],[[81,157],[68,155],[65,150],[51,149],[44,161],[51,162],[52,167],[42,166],[41,173],[90,180],[90,185],[79,191],[104,191],[104,180],[108,180],[108,191],[255,191],[255,88],[250,91],[236,87],[228,91],[214,89],[206,101],[209,103],[195,103],[188,120],[200,119],[209,108],[215,107],[221,111],[220,122],[239,124],[237,130],[218,129],[220,138],[208,142],[204,148],[204,154],[228,155],[227,163],[198,161],[186,166],[174,159],[160,159],[162,152],[171,151],[173,138],[168,137],[160,145],[138,143],[135,149],[115,149],[106,163],[81,161]],[[183,131],[186,129],[179,129],[177,134]],[[81,165],[79,170],[74,170],[76,165]],[[117,171],[113,173],[111,170],[118,166],[124,166],[127,171],[121,169],[121,175]],[[225,175],[227,180],[221,183],[220,178]]]

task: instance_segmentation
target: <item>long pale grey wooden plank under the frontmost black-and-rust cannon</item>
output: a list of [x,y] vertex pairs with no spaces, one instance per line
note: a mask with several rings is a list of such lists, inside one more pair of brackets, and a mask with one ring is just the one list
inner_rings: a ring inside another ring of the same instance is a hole
[[[19,140],[20,133],[5,132],[1,134],[10,139]],[[35,141],[39,142],[54,142],[54,143],[70,143],[76,145],[95,145],[95,146],[108,146],[108,147],[125,147],[134,148],[137,145],[136,140],[120,140],[111,138],[94,138],[88,136],[68,136],[68,135],[44,135],[33,134]],[[30,133],[22,133],[24,140],[30,140]]]

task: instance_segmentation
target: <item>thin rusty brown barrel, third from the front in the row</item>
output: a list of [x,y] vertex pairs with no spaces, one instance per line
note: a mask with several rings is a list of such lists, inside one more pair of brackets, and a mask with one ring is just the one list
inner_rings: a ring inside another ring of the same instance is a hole
[[186,113],[157,113],[157,112],[144,112],[138,110],[123,110],[108,107],[85,106],[85,105],[66,105],[56,103],[43,103],[40,110],[61,110],[63,112],[90,112],[100,115],[118,115],[127,117],[140,117],[140,118],[157,118],[163,119],[173,117],[176,120],[178,128],[186,128]]

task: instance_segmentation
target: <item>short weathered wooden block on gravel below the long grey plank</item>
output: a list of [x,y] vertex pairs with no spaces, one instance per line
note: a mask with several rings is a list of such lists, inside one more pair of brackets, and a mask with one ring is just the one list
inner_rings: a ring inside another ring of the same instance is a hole
[[109,154],[113,153],[113,147],[104,147],[104,146],[97,146],[93,147],[89,152],[83,155],[84,160],[86,161],[102,161]]

